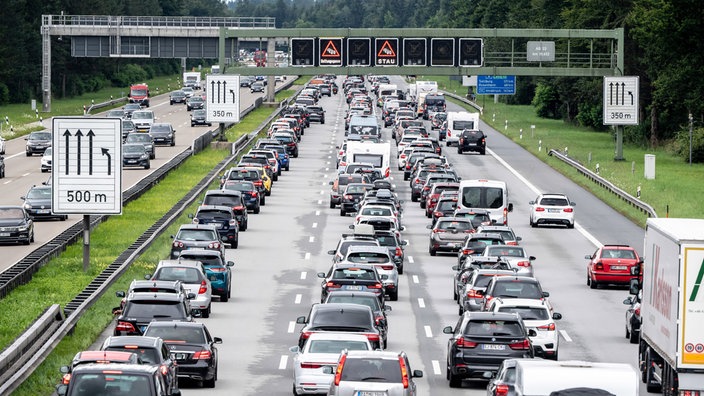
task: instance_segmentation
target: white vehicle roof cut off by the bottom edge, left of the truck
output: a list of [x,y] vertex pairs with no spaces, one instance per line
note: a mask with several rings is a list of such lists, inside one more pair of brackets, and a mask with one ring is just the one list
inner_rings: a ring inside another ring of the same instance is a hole
[[504,382],[510,386],[515,381],[513,394],[516,396],[550,396],[553,392],[562,394],[560,391],[574,388],[637,396],[638,380],[635,368],[625,363],[508,359],[502,363],[492,383]]

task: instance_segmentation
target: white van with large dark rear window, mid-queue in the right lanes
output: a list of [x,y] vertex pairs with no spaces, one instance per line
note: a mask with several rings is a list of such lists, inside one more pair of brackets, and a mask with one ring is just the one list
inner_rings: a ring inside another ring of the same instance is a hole
[[508,225],[508,212],[513,204],[508,202],[508,188],[500,180],[462,180],[457,209],[484,209],[489,212],[491,222]]

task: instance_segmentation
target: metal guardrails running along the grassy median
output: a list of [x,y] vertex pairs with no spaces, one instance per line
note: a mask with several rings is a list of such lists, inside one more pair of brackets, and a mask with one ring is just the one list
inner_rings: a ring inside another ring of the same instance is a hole
[[[293,84],[291,81],[277,89],[283,90]],[[300,90],[299,90],[300,92]],[[257,104],[261,104],[258,102]],[[253,110],[252,107],[245,109],[248,113]],[[222,171],[224,171],[232,161],[237,157],[237,154],[247,147],[247,145],[257,136],[273,117],[278,116],[283,107],[267,118],[267,121],[262,123],[255,131],[240,137],[233,143],[233,147],[238,147],[236,152],[229,158],[224,159],[218,164],[208,175],[201,180],[191,191],[182,198],[169,212],[167,212],[159,221],[150,227],[140,238],[135,241],[127,250],[125,250],[118,258],[109,265],[100,275],[98,275],[86,288],[76,296],[71,302],[66,305],[65,311],[68,316],[64,319],[63,312],[58,305],[52,306],[40,316],[35,323],[30,326],[23,334],[21,334],[11,346],[0,353],[0,394],[9,394],[16,389],[22,381],[26,380],[32,372],[44,361],[45,357],[53,351],[58,343],[71,332],[76,326],[83,312],[90,308],[93,303],[102,296],[107,288],[119,278],[119,276],[127,269],[131,262],[139,257],[146,250],[158,235],[165,230],[180,214],[202,193],[202,191],[215,180]],[[244,112],[244,111],[243,111]],[[246,114],[246,113],[245,113]],[[244,115],[241,115],[242,117]],[[212,135],[212,131],[205,132],[204,135]],[[176,168],[192,154],[189,148],[178,156],[174,157],[164,166],[160,167],[152,175],[161,173],[158,180],[164,177],[170,170]],[[152,176],[150,175],[150,176]],[[132,188],[124,193],[124,202],[129,202],[136,199],[139,195],[148,191],[151,186],[156,184],[158,180],[147,180],[145,178],[135,184]],[[91,219],[91,227],[99,223],[107,216],[94,216]],[[94,222],[94,223],[93,223]],[[77,234],[81,234],[81,223],[77,223],[72,228],[77,228]],[[68,231],[68,230],[67,230]],[[77,236],[76,236],[77,238]],[[57,247],[58,255],[65,250],[69,242],[60,244]],[[39,249],[38,249],[39,250]],[[48,259],[46,260],[48,261]],[[45,262],[44,262],[45,263]],[[43,264],[42,264],[43,265]],[[13,266],[14,267],[14,266]],[[39,266],[40,267],[40,266]],[[36,272],[37,267],[31,274]],[[29,279],[31,279],[31,274]],[[3,285],[4,286],[4,285]],[[13,287],[14,288],[14,287]],[[0,289],[1,290],[1,289]],[[9,292],[9,291],[8,291]],[[57,311],[58,313],[56,313]],[[53,318],[53,319],[52,319]],[[31,346],[29,348],[28,346]]]

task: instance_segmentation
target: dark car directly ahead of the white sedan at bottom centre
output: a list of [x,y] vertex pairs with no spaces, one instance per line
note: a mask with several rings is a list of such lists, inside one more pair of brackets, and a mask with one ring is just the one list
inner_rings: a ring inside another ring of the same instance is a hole
[[308,317],[299,316],[296,323],[303,324],[298,347],[303,348],[312,333],[337,331],[363,334],[373,349],[381,349],[381,333],[374,320],[372,309],[360,304],[314,304]]

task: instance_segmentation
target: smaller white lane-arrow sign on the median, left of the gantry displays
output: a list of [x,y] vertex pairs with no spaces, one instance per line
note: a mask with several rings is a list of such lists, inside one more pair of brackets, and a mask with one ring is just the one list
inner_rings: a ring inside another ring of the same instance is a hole
[[208,74],[205,78],[208,122],[240,121],[240,76]]

